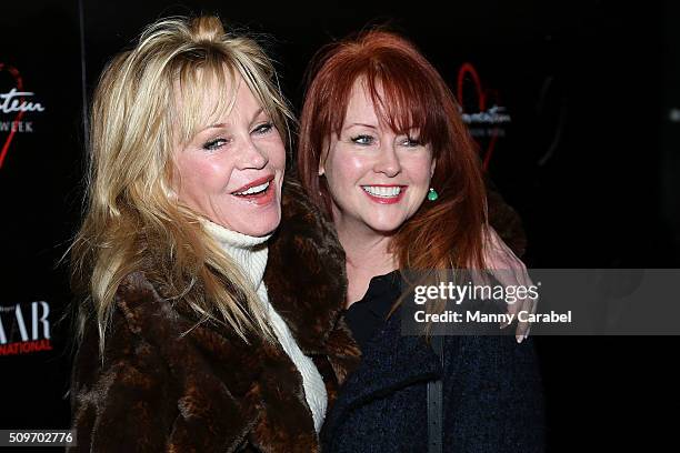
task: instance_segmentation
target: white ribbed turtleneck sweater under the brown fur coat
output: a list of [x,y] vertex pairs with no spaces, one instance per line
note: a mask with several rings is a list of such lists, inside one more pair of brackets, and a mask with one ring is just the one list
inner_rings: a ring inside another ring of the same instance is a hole
[[203,221],[203,225],[208,233],[218,241],[222,250],[236,261],[244,275],[252,282],[260,302],[267,310],[269,323],[281,343],[281,348],[283,348],[283,351],[286,351],[302,375],[304,397],[312,413],[314,429],[319,432],[323,424],[328,405],[326,385],[314,362],[300,350],[286,321],[283,321],[269,302],[263,278],[269,253],[267,240],[270,235],[261,238],[250,236],[227,230],[210,221]]

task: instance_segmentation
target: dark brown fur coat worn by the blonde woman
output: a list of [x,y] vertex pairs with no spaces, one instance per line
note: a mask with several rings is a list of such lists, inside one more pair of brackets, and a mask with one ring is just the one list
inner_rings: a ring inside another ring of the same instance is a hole
[[[344,253],[332,225],[288,184],[270,239],[269,299],[324,379],[329,405],[359,351],[342,321]],[[316,452],[302,379],[286,352],[201,324],[137,272],[120,285],[103,363],[86,329],[71,383],[78,446],[96,452]]]

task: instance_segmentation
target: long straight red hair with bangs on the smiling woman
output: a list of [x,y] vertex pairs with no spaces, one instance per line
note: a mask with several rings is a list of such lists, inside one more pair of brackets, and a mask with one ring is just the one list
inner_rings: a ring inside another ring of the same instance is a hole
[[424,201],[393,235],[400,268],[483,268],[486,192],[474,142],[441,76],[412,43],[391,32],[372,30],[329,44],[308,70],[298,171],[312,200],[332,215],[319,160],[331,133],[340,134],[357,80],[366,82],[379,119],[397,133],[418,129],[437,159],[431,185],[439,199]]

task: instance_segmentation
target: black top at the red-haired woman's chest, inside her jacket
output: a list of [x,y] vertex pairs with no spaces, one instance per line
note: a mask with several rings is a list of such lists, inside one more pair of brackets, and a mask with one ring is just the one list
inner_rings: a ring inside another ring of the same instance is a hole
[[363,298],[344,311],[344,321],[361,350],[380,330],[397,299],[401,295],[399,271],[373,276]]

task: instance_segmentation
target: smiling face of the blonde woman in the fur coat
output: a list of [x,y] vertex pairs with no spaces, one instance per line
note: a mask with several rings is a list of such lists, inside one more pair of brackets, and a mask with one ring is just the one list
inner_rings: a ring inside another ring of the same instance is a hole
[[[206,90],[203,118],[213,108]],[[243,234],[271,233],[281,220],[286,148],[279,131],[239,77],[230,112],[176,147],[178,199],[212,222]],[[181,105],[181,102],[178,103]]]

